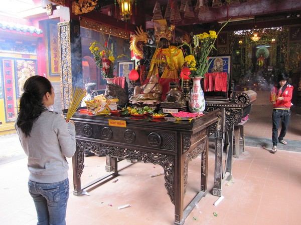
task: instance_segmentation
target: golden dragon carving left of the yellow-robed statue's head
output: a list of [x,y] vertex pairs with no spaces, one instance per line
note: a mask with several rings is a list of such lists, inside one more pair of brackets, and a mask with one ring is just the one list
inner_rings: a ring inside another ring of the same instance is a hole
[[143,58],[143,42],[144,44],[147,44],[147,41],[149,40],[148,34],[143,31],[142,26],[140,28],[137,27],[137,31],[135,31],[136,35],[132,35],[132,40],[129,42],[130,43],[130,50],[133,51],[133,53],[140,57],[141,59]]

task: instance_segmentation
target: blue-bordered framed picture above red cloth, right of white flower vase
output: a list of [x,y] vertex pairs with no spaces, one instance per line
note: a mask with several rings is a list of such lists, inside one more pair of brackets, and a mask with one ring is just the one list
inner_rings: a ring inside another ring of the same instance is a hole
[[208,73],[226,72],[230,75],[231,56],[214,56],[208,58]]

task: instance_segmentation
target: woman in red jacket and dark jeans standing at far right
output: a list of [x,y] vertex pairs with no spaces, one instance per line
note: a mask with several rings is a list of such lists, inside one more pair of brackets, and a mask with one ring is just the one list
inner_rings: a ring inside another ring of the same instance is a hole
[[[273,129],[272,129],[272,142],[273,147],[271,153],[275,153],[277,151],[277,142],[281,144],[287,144],[286,141],[283,140],[286,130],[288,127],[289,119],[290,119],[290,107],[292,90],[293,87],[288,84],[288,76],[284,73],[281,73],[277,79],[278,83],[273,87],[270,95],[270,101],[273,103]],[[278,128],[279,122],[281,120],[281,131],[278,136]]]

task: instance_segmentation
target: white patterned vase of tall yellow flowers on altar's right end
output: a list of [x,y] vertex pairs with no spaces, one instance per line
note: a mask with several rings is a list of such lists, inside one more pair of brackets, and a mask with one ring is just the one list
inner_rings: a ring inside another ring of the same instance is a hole
[[203,112],[205,110],[204,92],[201,88],[201,79],[205,76],[209,68],[208,56],[212,49],[215,49],[214,43],[220,31],[227,25],[227,21],[216,33],[209,31],[193,36],[193,45],[184,42],[189,47],[189,55],[185,57],[185,63],[190,69],[189,77],[193,80],[193,86],[190,91],[189,110],[193,113]]

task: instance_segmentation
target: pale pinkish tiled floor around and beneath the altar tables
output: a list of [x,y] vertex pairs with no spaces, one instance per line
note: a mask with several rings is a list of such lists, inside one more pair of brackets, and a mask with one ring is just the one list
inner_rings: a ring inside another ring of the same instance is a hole
[[[296,109],[297,110],[297,109]],[[245,134],[270,137],[271,110],[265,106],[253,106]],[[260,117],[260,118],[259,118]],[[300,141],[300,116],[292,113],[292,121],[286,140]],[[3,139],[0,138],[1,150]],[[18,143],[18,139],[15,140]],[[300,142],[301,145],[301,142]],[[12,146],[10,146],[12,147]],[[15,156],[16,157],[16,156]],[[27,160],[0,161],[0,224],[36,224],[34,204],[27,190]],[[0,157],[1,159],[1,157]],[[246,147],[239,159],[233,158],[233,180],[222,184],[224,199],[217,205],[213,187],[214,152],[210,149],[208,193],[196,205],[185,224],[218,225],[298,225],[301,224],[301,153]],[[70,167],[71,167],[71,160]],[[185,204],[198,191],[201,158],[189,164],[188,190]],[[83,183],[105,174],[105,157],[85,158]],[[126,160],[119,168],[130,165]],[[150,177],[163,168],[150,163],[134,163],[122,169],[119,176],[103,185],[92,186],[89,195],[72,194],[72,169],[70,169],[70,198],[67,209],[68,225],[127,225],[174,222],[174,207],[164,186],[164,177]],[[113,182],[118,179],[118,181]],[[118,209],[124,204],[131,207]],[[216,216],[215,216],[215,215]]]

